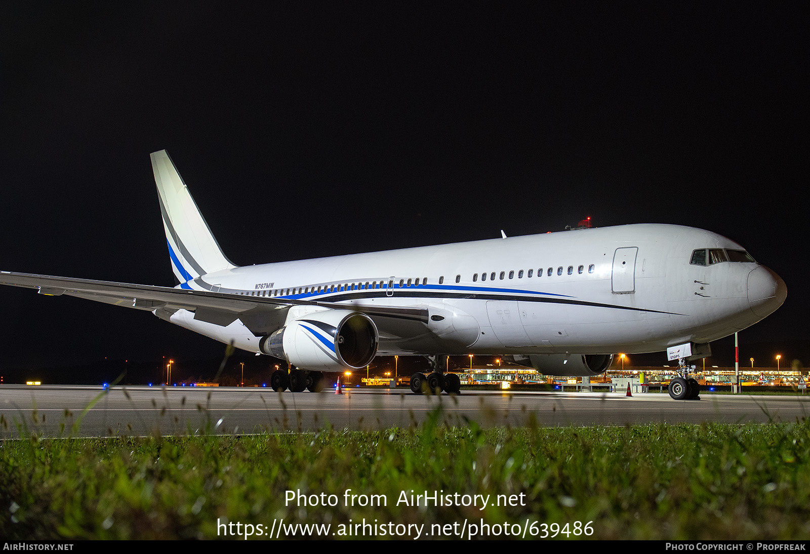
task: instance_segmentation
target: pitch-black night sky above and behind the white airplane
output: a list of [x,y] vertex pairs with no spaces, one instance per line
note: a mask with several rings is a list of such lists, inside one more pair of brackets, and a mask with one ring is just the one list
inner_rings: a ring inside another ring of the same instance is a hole
[[[174,284],[166,148],[237,264],[685,224],[787,282],[741,339],[805,340],[794,6],[3,2],[0,269]],[[149,313],[0,297],[0,369],[221,352]]]

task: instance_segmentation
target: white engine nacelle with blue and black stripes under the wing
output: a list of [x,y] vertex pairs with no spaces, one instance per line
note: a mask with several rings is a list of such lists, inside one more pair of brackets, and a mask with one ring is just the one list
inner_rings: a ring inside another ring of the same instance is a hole
[[364,313],[328,309],[301,315],[259,341],[265,354],[301,369],[360,369],[377,355],[377,326]]

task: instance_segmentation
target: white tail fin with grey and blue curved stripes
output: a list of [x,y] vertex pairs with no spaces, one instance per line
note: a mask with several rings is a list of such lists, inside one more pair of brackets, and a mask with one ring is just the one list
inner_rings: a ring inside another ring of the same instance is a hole
[[181,283],[200,275],[235,267],[216,243],[194,198],[165,150],[152,152],[160,215],[168,242],[172,270]]

